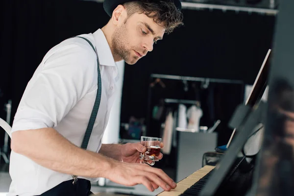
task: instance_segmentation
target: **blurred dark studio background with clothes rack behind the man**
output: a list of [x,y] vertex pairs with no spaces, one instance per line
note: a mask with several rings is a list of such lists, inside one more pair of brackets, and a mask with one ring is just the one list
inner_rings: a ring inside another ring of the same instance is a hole
[[[25,87],[49,49],[106,25],[103,0],[0,1],[0,118],[13,123]],[[272,46],[278,0],[183,0],[184,25],[135,65],[119,62],[120,93],[103,143],[163,137],[153,167],[176,182],[202,167],[205,152],[226,145],[227,123],[244,103]],[[198,122],[192,122],[196,112]],[[193,124],[194,123],[194,124]],[[0,129],[0,195],[8,192],[10,139]],[[156,195],[105,179],[95,193]]]

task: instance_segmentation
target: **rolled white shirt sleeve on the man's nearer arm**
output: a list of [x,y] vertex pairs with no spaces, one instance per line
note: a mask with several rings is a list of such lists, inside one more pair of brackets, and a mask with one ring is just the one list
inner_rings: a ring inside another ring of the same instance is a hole
[[95,64],[94,50],[85,46],[69,44],[55,51],[29,81],[12,132],[56,126],[87,92],[95,90]]

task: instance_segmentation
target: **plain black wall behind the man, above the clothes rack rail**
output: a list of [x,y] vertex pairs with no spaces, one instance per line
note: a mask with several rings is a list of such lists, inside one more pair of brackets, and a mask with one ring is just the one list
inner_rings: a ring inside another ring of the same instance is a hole
[[[254,81],[271,46],[273,16],[219,10],[183,13],[184,26],[165,35],[136,65],[125,66],[122,122],[130,115],[146,118],[151,73]],[[94,32],[108,20],[102,4],[94,1],[1,0],[0,110],[11,98],[13,119],[28,80],[50,48]],[[0,115],[5,119],[3,112]]]

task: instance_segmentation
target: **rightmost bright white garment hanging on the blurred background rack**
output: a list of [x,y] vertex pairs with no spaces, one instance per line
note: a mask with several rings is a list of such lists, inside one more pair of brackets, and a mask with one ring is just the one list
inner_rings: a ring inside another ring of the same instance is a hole
[[200,107],[196,107],[196,105],[192,105],[187,110],[187,117],[189,119],[188,129],[194,129],[196,132],[199,131],[199,121],[202,115],[202,109]]

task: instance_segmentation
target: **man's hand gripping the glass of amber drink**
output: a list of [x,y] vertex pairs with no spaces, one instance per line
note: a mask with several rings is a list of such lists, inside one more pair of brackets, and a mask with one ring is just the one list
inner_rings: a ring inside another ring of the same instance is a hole
[[[163,143],[160,144],[163,147]],[[141,163],[140,152],[145,153],[147,150],[146,147],[140,143],[127,143],[121,147],[121,160],[122,162],[127,163]],[[163,154],[160,153],[158,158],[162,159]],[[154,161],[148,161],[149,164],[154,164]]]

